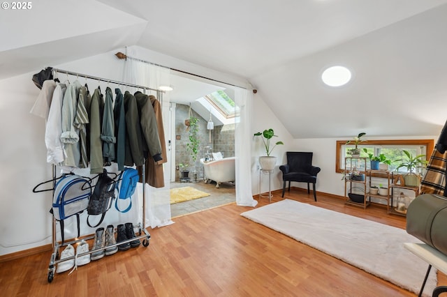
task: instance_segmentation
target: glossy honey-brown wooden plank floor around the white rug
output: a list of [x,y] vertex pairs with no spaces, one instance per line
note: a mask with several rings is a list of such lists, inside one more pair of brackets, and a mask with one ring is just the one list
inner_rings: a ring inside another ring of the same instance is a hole
[[[295,189],[285,198],[405,227],[404,217],[381,206],[364,210],[325,195],[314,202],[312,192]],[[272,201],[280,199],[274,192]],[[56,274],[51,284],[50,251],[0,263],[1,296],[415,296],[242,218],[249,209],[230,204],[182,216],[149,229],[149,247]]]

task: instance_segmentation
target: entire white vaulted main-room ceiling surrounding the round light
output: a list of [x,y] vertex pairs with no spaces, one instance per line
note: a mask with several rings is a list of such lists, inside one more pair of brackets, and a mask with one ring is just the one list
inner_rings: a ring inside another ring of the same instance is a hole
[[[447,118],[447,0],[32,4],[0,10],[0,79],[138,45],[247,77],[295,138],[438,135]],[[347,86],[321,83],[335,64]]]

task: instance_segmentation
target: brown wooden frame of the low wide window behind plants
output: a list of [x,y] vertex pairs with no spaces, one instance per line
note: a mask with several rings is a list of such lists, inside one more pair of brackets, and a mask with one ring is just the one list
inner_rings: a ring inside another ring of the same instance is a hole
[[[337,140],[335,146],[335,172],[343,173],[342,164],[344,160],[341,159],[340,151],[348,140]],[[426,160],[430,160],[432,152],[434,150],[433,139],[389,139],[389,140],[365,140],[362,145],[395,145],[395,146],[425,146],[427,148]],[[430,154],[430,155],[429,155]]]

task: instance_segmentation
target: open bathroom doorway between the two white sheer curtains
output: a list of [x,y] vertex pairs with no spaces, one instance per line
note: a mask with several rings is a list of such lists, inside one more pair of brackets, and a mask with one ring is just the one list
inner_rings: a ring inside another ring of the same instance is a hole
[[[211,153],[221,153],[223,158],[235,156],[235,117],[223,116],[219,106],[210,97],[233,96],[234,91],[224,84],[209,79],[193,77],[184,73],[173,73],[170,79],[174,90],[170,93],[170,188],[190,187],[209,194],[207,197],[171,204],[172,218],[196,213],[236,201],[233,182],[205,183],[203,163],[200,159],[212,158]],[[216,93],[219,91],[219,93]],[[221,94],[221,95],[219,95]],[[190,116],[198,119],[198,149],[192,158],[189,149],[189,129],[185,120]],[[210,125],[212,122],[212,125]],[[212,129],[210,129],[212,127]],[[195,159],[195,160],[194,160]],[[186,168],[185,168],[186,167]],[[187,179],[182,178],[182,169],[189,170]]]

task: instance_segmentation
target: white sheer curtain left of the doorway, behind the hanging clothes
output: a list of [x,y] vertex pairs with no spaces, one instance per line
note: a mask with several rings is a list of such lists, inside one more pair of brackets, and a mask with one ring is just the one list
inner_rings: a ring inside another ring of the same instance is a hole
[[[131,84],[138,84],[141,86],[149,86],[152,89],[158,89],[161,85],[170,85],[170,69],[155,66],[153,64],[127,59],[124,68],[124,82]],[[129,90],[130,91],[130,90]],[[137,91],[137,90],[133,90]],[[142,90],[139,90],[142,91]],[[123,91],[124,93],[124,91]],[[131,92],[132,93],[132,92]],[[152,95],[157,96],[157,92],[152,91]],[[163,126],[165,132],[169,128],[169,93],[163,93],[161,100]],[[167,136],[167,135],[166,135]],[[165,137],[168,141],[168,137]],[[168,148],[166,144],[166,148]],[[167,158],[167,156],[163,156]],[[170,215],[170,160],[163,164],[163,172],[165,179],[164,188],[154,188],[145,183],[145,197],[146,197],[146,226],[152,228],[162,227],[172,224]],[[142,184],[138,188],[138,197],[142,201]],[[141,205],[141,204],[140,204]],[[142,218],[140,218],[142,220]]]

